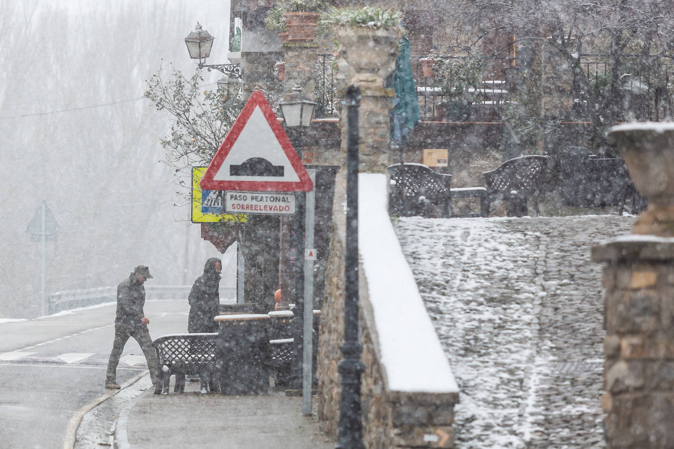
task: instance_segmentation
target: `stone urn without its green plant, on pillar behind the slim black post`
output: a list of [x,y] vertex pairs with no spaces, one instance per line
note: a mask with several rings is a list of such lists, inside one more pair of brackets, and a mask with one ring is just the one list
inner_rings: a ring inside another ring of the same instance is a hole
[[382,85],[393,73],[402,36],[399,30],[339,27],[336,33],[351,69],[349,83]]

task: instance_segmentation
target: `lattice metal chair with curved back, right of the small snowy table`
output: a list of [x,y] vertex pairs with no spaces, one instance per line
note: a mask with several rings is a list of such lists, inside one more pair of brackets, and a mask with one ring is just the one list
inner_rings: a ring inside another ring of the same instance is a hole
[[543,191],[550,158],[548,156],[520,156],[503,162],[494,170],[484,172],[487,184],[487,215],[491,203],[497,199],[508,201],[508,215],[527,214],[526,200],[534,201],[537,215],[538,197]]

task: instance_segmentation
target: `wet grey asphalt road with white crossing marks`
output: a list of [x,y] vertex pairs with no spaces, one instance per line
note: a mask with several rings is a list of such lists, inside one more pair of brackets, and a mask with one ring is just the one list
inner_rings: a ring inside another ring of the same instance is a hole
[[[187,300],[146,302],[150,335],[187,332]],[[115,304],[0,323],[0,436],[5,448],[64,448],[80,417],[113,391],[103,387]],[[117,368],[124,384],[147,370],[130,339]]]

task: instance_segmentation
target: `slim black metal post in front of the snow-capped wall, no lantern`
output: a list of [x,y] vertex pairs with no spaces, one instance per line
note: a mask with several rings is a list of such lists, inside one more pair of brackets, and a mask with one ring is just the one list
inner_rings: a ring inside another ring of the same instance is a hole
[[350,85],[342,102],[346,106],[346,243],[344,249],[344,343],[342,361],[338,366],[342,376],[340,417],[336,448],[361,449],[363,421],[361,413],[361,361],[363,346],[358,341],[358,137],[361,90]]

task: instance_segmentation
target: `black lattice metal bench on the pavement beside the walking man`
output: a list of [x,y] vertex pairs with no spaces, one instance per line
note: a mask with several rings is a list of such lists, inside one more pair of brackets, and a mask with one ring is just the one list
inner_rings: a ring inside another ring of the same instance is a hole
[[209,382],[217,382],[214,379],[217,337],[217,333],[174,334],[153,341],[159,368],[154,394],[168,394],[172,375],[175,375],[174,392],[185,391],[185,374],[200,377],[202,392],[208,390]]

